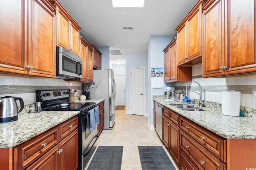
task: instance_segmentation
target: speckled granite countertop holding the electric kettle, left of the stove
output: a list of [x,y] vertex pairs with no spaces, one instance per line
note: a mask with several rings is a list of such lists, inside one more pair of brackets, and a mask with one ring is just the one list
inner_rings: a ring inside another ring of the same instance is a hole
[[42,111],[18,115],[17,121],[0,123],[0,148],[10,148],[78,115],[80,111]]

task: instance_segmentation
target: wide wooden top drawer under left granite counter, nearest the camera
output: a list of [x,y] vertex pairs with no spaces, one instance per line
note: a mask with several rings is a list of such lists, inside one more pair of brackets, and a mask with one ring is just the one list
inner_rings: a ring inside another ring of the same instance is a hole
[[[17,152],[17,169],[24,169],[58,143],[58,127],[38,135],[14,149]],[[15,158],[14,158],[15,161]]]

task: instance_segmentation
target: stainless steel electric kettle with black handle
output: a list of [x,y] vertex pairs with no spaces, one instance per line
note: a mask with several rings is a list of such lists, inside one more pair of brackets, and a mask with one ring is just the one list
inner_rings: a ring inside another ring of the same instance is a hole
[[[20,101],[20,109],[18,110],[16,100]],[[24,108],[22,98],[5,96],[0,98],[0,123],[18,120],[18,113]]]

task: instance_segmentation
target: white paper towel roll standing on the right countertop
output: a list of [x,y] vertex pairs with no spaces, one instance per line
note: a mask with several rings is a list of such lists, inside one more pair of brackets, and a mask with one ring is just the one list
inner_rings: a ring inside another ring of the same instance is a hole
[[228,116],[239,116],[240,92],[222,92],[222,114]]

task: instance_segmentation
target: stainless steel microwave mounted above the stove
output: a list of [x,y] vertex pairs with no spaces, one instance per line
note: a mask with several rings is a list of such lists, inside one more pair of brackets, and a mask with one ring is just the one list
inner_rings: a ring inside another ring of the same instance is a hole
[[82,59],[63,47],[56,48],[56,68],[56,78],[82,78]]

